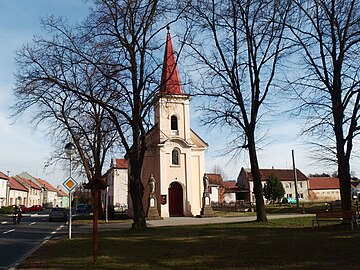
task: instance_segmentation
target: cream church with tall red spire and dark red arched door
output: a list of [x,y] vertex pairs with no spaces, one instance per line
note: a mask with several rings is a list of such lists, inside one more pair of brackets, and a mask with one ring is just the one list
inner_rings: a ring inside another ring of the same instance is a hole
[[196,216],[201,211],[208,145],[190,128],[189,106],[190,95],[182,90],[168,32],[160,91],[154,99],[154,126],[147,134],[142,169],[145,209],[150,204],[160,217]]

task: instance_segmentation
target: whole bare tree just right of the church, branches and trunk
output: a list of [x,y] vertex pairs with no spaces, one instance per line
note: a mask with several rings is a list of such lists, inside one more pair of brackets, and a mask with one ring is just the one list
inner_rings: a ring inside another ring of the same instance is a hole
[[283,34],[289,6],[289,1],[203,0],[188,9],[196,29],[188,46],[202,78],[198,95],[210,98],[203,120],[229,127],[236,135],[232,150],[249,151],[257,221],[267,217],[256,128],[287,46]]

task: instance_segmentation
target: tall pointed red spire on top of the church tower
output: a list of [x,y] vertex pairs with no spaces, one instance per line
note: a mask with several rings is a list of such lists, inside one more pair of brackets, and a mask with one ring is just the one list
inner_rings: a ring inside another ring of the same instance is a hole
[[163,70],[161,75],[160,92],[163,94],[179,95],[182,94],[179,72],[176,65],[174,50],[171,43],[171,36],[167,33]]

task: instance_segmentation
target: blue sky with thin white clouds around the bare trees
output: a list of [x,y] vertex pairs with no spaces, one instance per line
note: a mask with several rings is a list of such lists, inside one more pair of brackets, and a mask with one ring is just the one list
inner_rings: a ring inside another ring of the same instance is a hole
[[[34,35],[43,34],[41,17],[63,16],[75,23],[87,15],[88,6],[83,0],[0,0],[0,171],[3,173],[16,175],[26,171],[54,186],[66,180],[68,172],[63,168],[44,169],[44,163],[51,153],[51,145],[50,139],[41,129],[35,130],[26,120],[26,115],[15,123],[14,119],[9,118],[9,107],[15,102],[12,94],[14,56],[16,49],[30,42]],[[173,46],[176,50],[175,40]],[[181,66],[179,72],[181,77]],[[190,106],[192,129],[209,144],[206,151],[206,171],[211,172],[218,165],[223,169],[227,180],[235,180],[241,167],[250,167],[247,153],[229,161],[230,156],[224,156],[221,151],[228,140],[226,129],[209,130],[200,126],[200,115],[194,106]],[[258,153],[260,167],[290,169],[293,166],[291,151],[294,150],[296,167],[303,173],[334,172],[335,167],[317,167],[314,160],[309,158],[307,147],[299,136],[300,128],[300,121],[284,117],[278,117],[271,121],[271,125],[266,125],[266,141]]]

